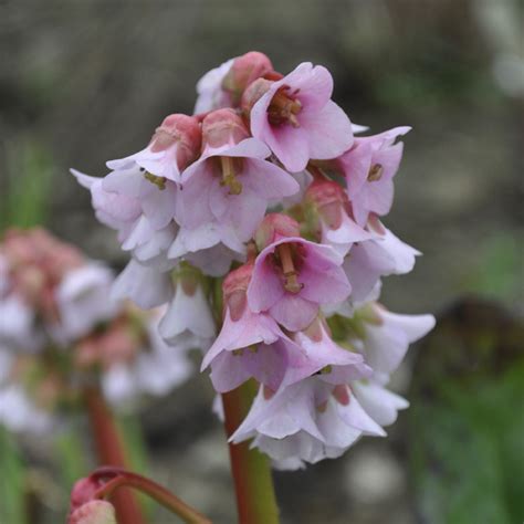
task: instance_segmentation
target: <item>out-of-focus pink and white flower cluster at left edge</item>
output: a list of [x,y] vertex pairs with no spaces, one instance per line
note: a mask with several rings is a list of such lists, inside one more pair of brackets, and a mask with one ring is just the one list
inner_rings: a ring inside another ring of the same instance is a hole
[[158,334],[161,311],[109,298],[113,272],[42,229],[0,242],[0,423],[50,428],[86,387],[126,408],[190,374]]

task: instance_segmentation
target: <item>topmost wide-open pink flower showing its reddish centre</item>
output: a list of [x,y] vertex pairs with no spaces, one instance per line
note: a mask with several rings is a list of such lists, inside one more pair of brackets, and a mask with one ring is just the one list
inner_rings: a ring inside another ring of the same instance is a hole
[[304,62],[253,105],[251,133],[292,172],[302,171],[312,158],[338,157],[352,146],[353,132],[332,93],[329,72]]

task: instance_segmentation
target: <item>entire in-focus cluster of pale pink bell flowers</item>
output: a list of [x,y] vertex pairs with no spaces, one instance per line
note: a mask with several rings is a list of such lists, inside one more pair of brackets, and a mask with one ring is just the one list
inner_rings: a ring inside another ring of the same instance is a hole
[[197,91],[104,178],[73,171],[130,254],[114,294],[167,304],[161,336],[205,352],[218,392],[259,384],[233,442],[283,469],[338,457],[408,406],[387,384],[434,323],[377,302],[420,254],[381,221],[410,128],[355,136],[325,67],[256,52]]

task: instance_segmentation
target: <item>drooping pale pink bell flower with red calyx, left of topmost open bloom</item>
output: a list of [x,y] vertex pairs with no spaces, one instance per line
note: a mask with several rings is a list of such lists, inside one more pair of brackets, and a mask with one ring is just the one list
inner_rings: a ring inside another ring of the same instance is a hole
[[230,224],[245,242],[256,230],[269,201],[298,191],[298,184],[275,164],[270,149],[250,138],[231,109],[209,114],[202,123],[202,156],[182,174],[177,220],[192,230],[207,223]]

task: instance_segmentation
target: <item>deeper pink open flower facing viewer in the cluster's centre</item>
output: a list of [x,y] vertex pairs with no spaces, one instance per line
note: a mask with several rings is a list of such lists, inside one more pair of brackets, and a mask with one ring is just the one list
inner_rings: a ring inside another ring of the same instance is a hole
[[342,302],[352,289],[333,248],[300,237],[277,238],[256,256],[248,302],[254,313],[268,312],[286,329],[300,331],[312,323],[319,304]]

